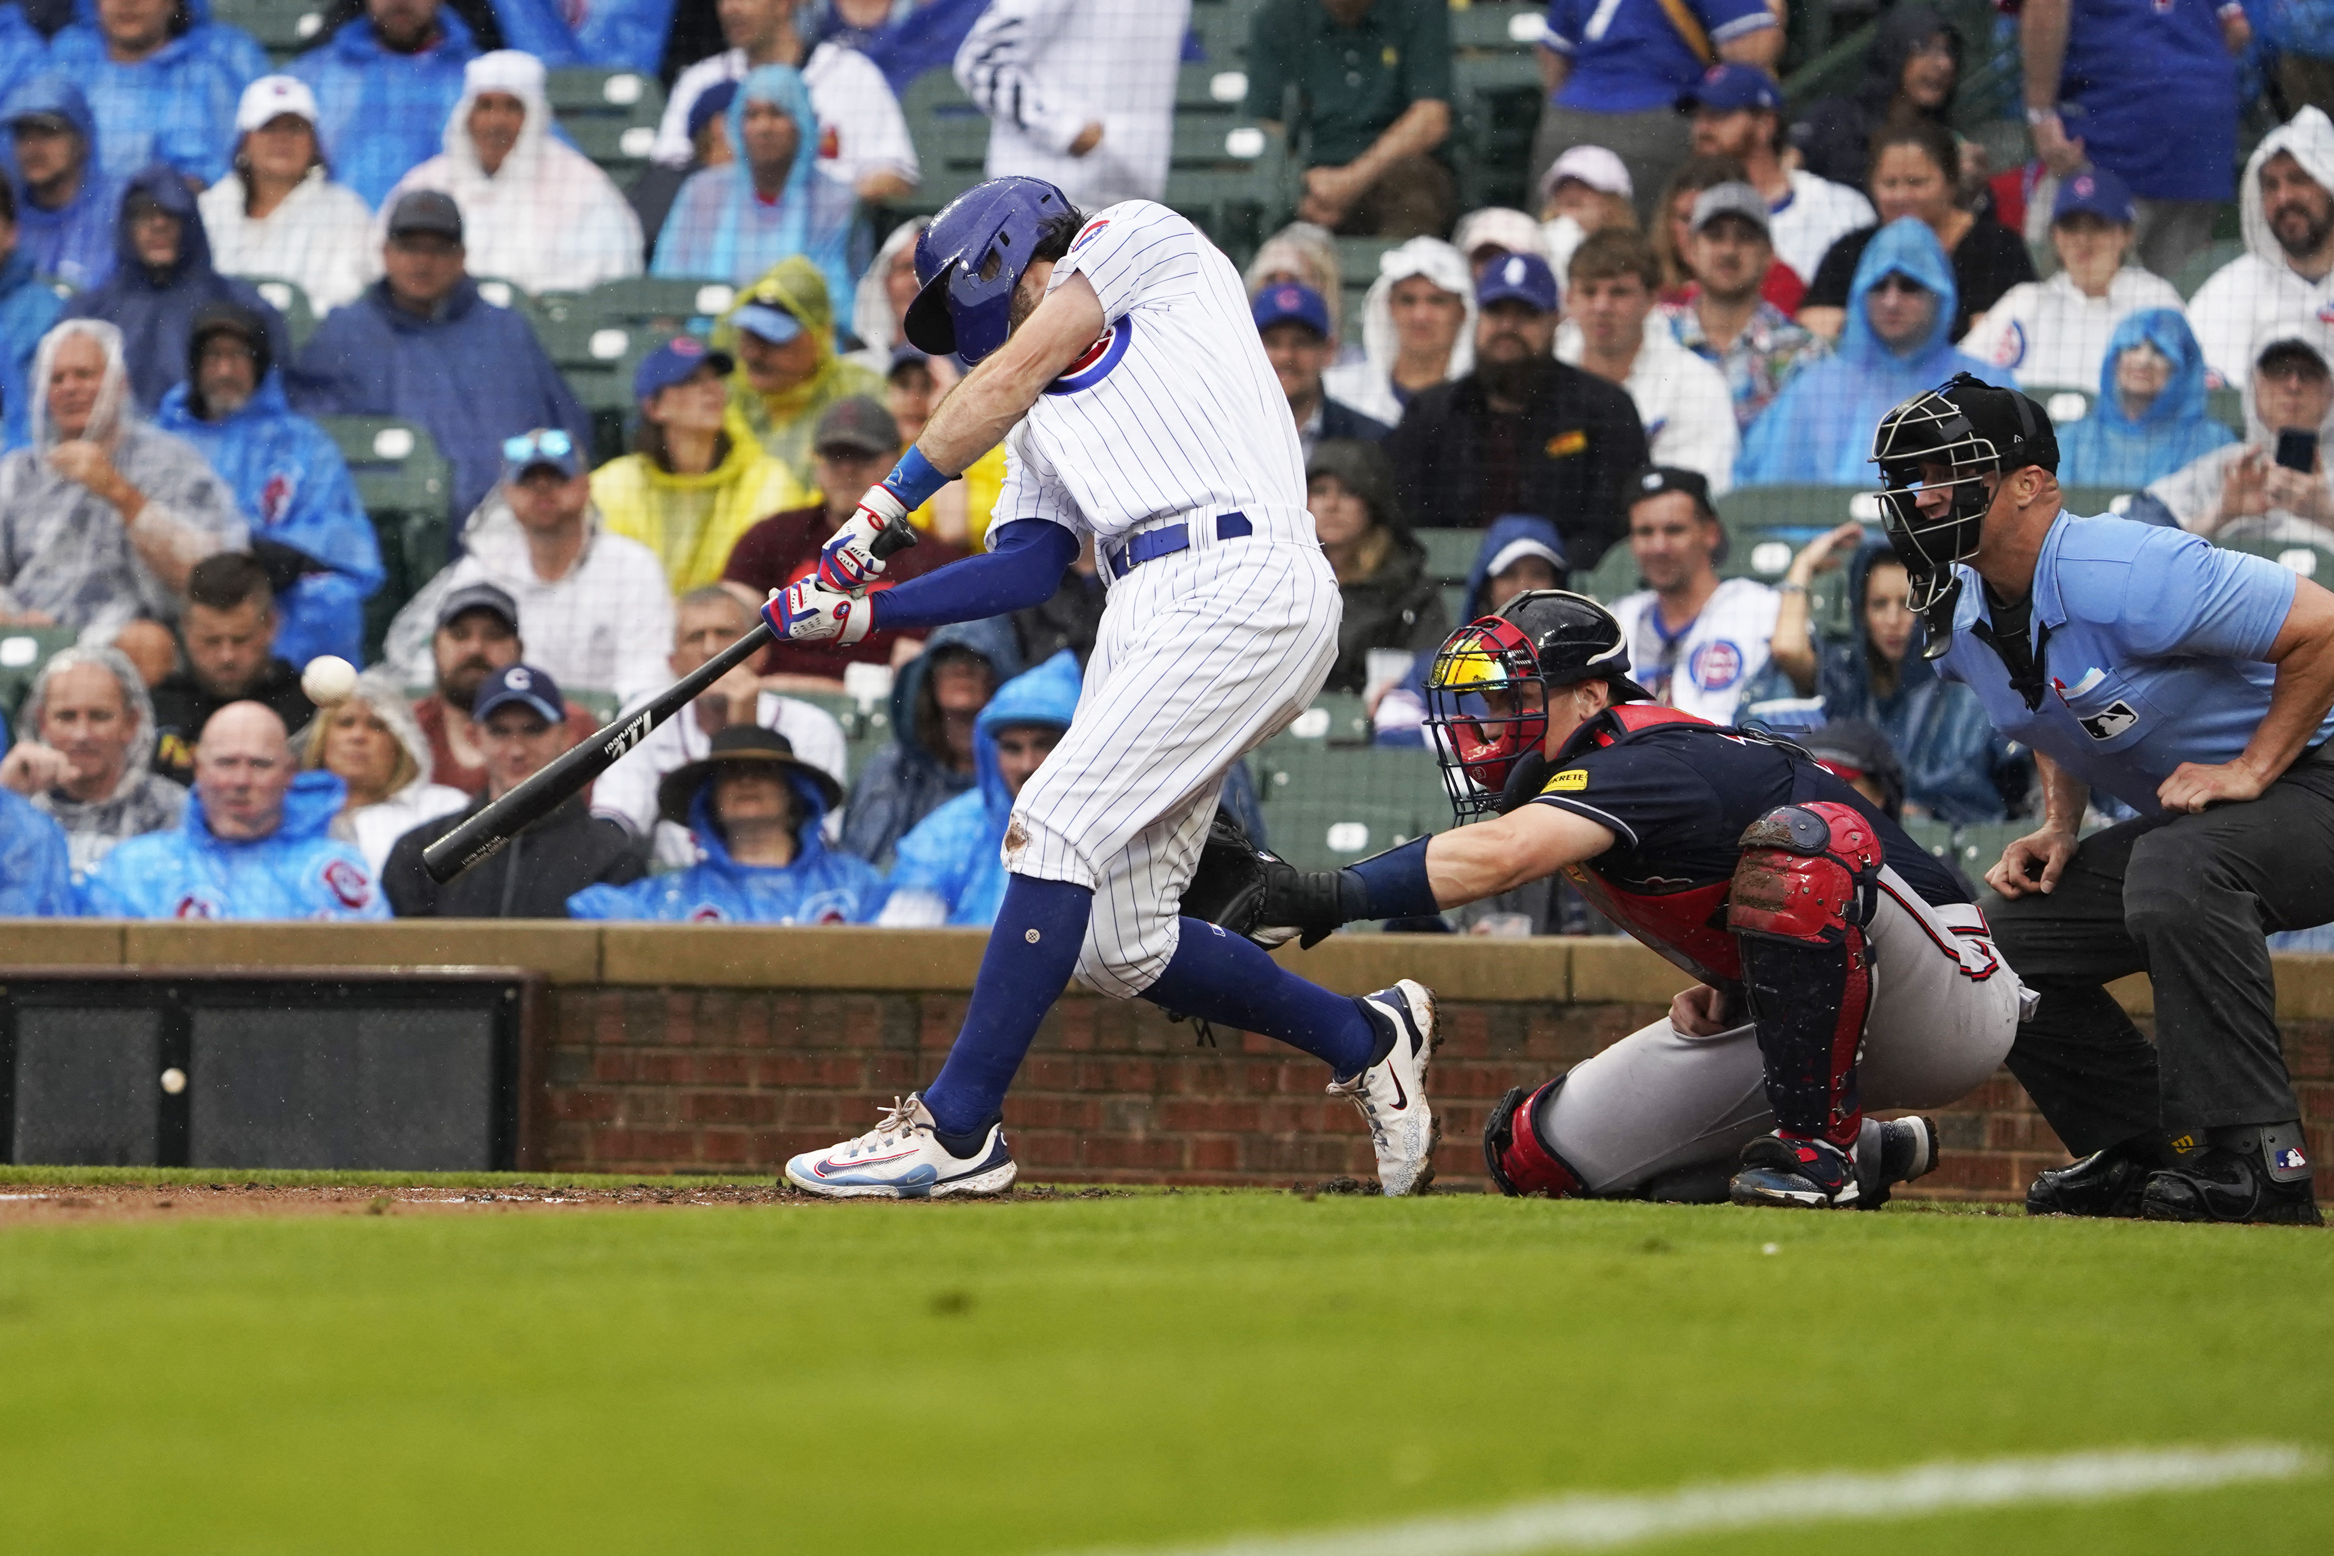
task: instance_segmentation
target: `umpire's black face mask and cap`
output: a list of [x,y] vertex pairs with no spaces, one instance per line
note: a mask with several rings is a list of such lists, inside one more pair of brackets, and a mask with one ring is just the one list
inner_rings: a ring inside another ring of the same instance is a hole
[[[1984,478],[2028,464],[2056,471],[2059,436],[2042,406],[2017,390],[1956,373],[1881,418],[1872,460],[1881,467],[1879,504],[1888,544],[1912,574],[1912,609],[1930,614],[1949,604],[1958,588],[1954,562],[1977,555],[1991,502]],[[1923,481],[1923,464],[1944,467],[1944,478]],[[1947,490],[1947,506],[1923,513],[1921,492],[1940,488]],[[1951,621],[1944,628],[1930,632],[1937,653],[1951,639]]]

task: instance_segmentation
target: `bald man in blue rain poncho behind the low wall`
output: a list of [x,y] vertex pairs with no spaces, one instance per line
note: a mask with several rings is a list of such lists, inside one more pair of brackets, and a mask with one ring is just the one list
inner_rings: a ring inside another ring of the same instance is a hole
[[352,842],[331,837],[348,791],[301,772],[285,723],[229,702],[194,754],[194,793],[175,830],[114,847],[89,872],[100,919],[385,919],[387,898]]

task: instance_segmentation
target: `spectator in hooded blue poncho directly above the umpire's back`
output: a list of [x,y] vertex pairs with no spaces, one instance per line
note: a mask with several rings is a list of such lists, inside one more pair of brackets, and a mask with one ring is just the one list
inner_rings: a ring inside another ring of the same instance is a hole
[[2059,483],[2133,490],[2234,443],[2203,406],[2203,348],[2187,317],[2133,313],[2108,341],[2091,415],[2059,429]]

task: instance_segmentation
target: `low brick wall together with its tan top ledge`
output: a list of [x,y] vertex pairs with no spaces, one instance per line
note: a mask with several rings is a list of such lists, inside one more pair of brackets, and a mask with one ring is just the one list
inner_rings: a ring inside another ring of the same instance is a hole
[[[541,1169],[773,1173],[866,1129],[929,1080],[980,966],[978,931],[497,921],[0,921],[7,968],[525,968],[551,984]],[[1685,977],[1627,940],[1337,935],[1286,966],[1363,994],[1419,977],[1442,1001],[1438,1171],[1482,1185],[1484,1108],[1666,1010]],[[2147,984],[2117,989],[2147,1024]],[[2334,1162],[2334,956],[2278,959],[2287,1064],[2311,1145]],[[1246,1033],[1200,1047],[1146,1003],[1071,996],[1008,1103],[1022,1169],[1050,1180],[1291,1183],[1370,1176],[1351,1106],[1321,1066]],[[1923,1190],[2014,1199],[2066,1162],[2005,1073],[1940,1115]],[[2334,1178],[2329,1178],[2334,1187]]]

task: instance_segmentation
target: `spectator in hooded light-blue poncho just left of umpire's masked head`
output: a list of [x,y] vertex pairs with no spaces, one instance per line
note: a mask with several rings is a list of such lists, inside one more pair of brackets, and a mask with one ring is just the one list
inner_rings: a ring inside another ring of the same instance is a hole
[[1919,217],[1872,236],[1849,287],[1839,348],[1783,385],[1743,439],[1734,485],[1872,485],[1881,415],[1954,373],[2012,383],[1954,350],[1954,264]]

